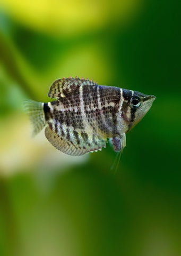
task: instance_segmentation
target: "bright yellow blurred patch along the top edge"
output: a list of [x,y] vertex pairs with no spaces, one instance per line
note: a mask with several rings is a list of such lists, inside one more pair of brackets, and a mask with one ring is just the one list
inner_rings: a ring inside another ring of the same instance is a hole
[[23,25],[57,36],[122,25],[139,10],[140,0],[1,0],[3,9]]

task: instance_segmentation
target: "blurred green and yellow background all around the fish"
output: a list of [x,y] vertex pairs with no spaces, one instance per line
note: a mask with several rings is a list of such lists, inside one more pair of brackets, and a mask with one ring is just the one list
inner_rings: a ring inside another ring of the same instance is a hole
[[[0,255],[179,256],[179,1],[0,2]],[[127,134],[66,156],[31,139],[24,99],[67,76],[154,94]]]

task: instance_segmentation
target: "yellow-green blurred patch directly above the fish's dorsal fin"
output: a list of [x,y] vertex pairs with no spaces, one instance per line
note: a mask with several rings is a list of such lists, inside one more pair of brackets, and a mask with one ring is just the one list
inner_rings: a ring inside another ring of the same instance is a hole
[[85,78],[97,82],[99,79],[99,83],[111,81],[113,67],[110,66],[110,58],[104,55],[104,46],[100,44],[76,46],[57,60],[55,66],[49,70],[49,79],[53,81],[53,77],[60,77],[60,74],[65,77],[82,77],[83,74]]

